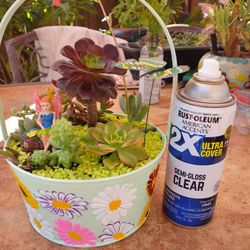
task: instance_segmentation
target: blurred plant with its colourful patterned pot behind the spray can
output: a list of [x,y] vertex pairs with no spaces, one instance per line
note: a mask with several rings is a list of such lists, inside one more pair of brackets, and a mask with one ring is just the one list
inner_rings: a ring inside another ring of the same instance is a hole
[[214,32],[219,43],[219,50],[214,45],[212,52],[204,55],[201,63],[205,58],[216,59],[229,87],[245,88],[250,75],[250,1],[220,0],[215,4],[199,5],[207,22],[204,32]]

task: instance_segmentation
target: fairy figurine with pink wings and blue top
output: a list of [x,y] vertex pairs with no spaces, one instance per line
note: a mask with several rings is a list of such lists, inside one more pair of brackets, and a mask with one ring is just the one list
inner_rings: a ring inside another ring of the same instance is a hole
[[[48,130],[55,123],[56,119],[60,118],[62,113],[61,95],[59,92],[53,93],[53,90],[48,89],[45,96],[39,96],[34,93],[35,110],[38,113],[37,124],[43,130]],[[44,132],[45,132],[44,131]],[[49,147],[49,134],[45,132],[42,135],[44,151]]]

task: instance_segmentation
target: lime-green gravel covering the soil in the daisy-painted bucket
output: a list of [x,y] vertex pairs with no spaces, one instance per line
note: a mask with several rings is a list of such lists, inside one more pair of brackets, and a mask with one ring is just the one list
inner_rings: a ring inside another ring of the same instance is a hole
[[[111,116],[114,118],[114,116]],[[121,121],[121,119],[126,122],[126,117],[115,117]],[[138,127],[144,127],[144,123],[138,123]],[[82,138],[86,134],[86,127],[74,126],[74,133],[80,138],[82,154],[80,155],[80,164],[75,164],[71,168],[63,168],[62,166],[49,166],[45,165],[43,169],[33,170],[32,173],[49,178],[55,179],[69,179],[69,180],[84,180],[84,179],[97,179],[97,178],[107,178],[111,176],[118,176],[125,173],[129,173],[135,169],[138,169],[145,164],[152,161],[162,150],[163,141],[161,139],[160,133],[155,131],[149,131],[146,136],[145,150],[148,154],[148,159],[140,161],[135,167],[126,166],[124,163],[120,163],[113,169],[108,169],[100,161],[100,157],[90,156],[84,152],[84,142]],[[15,140],[11,140],[9,146],[19,152],[19,160],[21,163],[27,161],[30,158],[30,154],[27,154],[21,150],[20,143]]]

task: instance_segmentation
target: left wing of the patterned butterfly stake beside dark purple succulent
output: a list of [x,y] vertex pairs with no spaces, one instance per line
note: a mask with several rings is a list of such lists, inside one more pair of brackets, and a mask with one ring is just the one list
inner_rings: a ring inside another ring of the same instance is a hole
[[151,71],[162,68],[166,65],[166,62],[159,62],[150,58],[143,58],[140,61],[135,59],[128,59],[125,61],[120,61],[115,64],[116,67],[121,69],[129,70],[142,70],[142,71]]

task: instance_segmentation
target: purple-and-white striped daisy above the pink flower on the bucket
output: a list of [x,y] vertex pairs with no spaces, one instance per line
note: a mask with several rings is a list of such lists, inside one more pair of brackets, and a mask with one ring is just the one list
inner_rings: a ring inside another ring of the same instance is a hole
[[39,190],[35,196],[43,208],[68,219],[82,216],[81,211],[88,209],[88,202],[73,193]]

